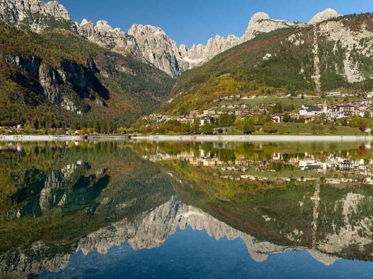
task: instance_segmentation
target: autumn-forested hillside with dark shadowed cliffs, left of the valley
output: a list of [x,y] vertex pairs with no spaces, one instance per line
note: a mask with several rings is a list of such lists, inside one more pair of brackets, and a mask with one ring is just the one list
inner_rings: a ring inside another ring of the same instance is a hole
[[152,113],[175,80],[66,30],[38,34],[0,22],[0,125],[129,126]]

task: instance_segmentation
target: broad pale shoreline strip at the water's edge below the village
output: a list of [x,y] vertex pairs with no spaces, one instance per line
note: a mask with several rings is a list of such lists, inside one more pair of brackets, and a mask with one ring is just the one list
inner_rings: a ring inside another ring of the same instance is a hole
[[182,135],[182,136],[138,136],[133,140],[154,141],[372,141],[372,136],[337,135]]

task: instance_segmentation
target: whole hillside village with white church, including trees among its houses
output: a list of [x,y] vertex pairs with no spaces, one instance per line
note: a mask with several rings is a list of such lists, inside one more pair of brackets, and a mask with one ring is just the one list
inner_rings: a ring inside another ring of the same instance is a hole
[[[152,114],[144,116],[143,120],[152,120],[156,123],[176,120],[180,121],[181,124],[193,125],[195,124],[195,119],[198,119],[200,126],[203,126],[205,123],[212,124],[221,114],[229,114],[241,118],[262,115],[263,117],[270,117],[271,121],[274,123],[290,122],[289,120],[292,122],[301,121],[301,123],[332,123],[340,119],[344,119],[349,123],[349,121],[355,116],[366,118],[373,117],[373,92],[365,93],[363,97],[359,98],[359,100],[354,103],[348,100],[349,97],[354,97],[354,94],[327,92],[325,95],[333,98],[344,98],[346,101],[342,101],[339,104],[328,104],[326,101],[316,105],[302,104],[294,110],[285,110],[271,114],[271,112],[274,111],[271,108],[274,108],[276,105],[281,103],[281,100],[268,103],[264,102],[264,100],[269,98],[265,95],[241,97],[241,95],[238,94],[219,99],[219,101],[223,103],[219,107],[204,110],[192,110],[188,115],[184,116]],[[289,94],[281,97],[292,99]],[[307,101],[304,95],[299,95],[297,97],[304,99],[305,102]],[[313,97],[310,98],[313,100]],[[250,108],[247,100],[253,99],[261,100],[261,102],[258,101],[255,106]],[[232,100],[240,100],[240,102],[234,103]],[[226,103],[224,103],[224,101],[226,101]],[[367,128],[364,132],[369,134],[371,129]]]

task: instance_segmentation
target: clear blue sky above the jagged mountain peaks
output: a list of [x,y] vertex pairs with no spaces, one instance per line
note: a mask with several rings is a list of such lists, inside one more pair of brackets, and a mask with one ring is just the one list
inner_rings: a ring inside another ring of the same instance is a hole
[[372,0],[58,0],[79,23],[106,20],[127,32],[132,24],[162,28],[178,45],[206,44],[216,34],[241,37],[251,16],[264,11],[273,19],[308,22],[330,7],[339,14],[373,12]]

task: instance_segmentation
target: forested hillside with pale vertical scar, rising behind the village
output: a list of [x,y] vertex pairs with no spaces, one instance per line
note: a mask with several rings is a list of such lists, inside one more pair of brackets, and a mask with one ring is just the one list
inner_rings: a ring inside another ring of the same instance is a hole
[[370,90],[372,22],[370,13],[347,15],[258,35],[184,72],[161,112],[183,115],[235,94],[312,95],[340,86]]

